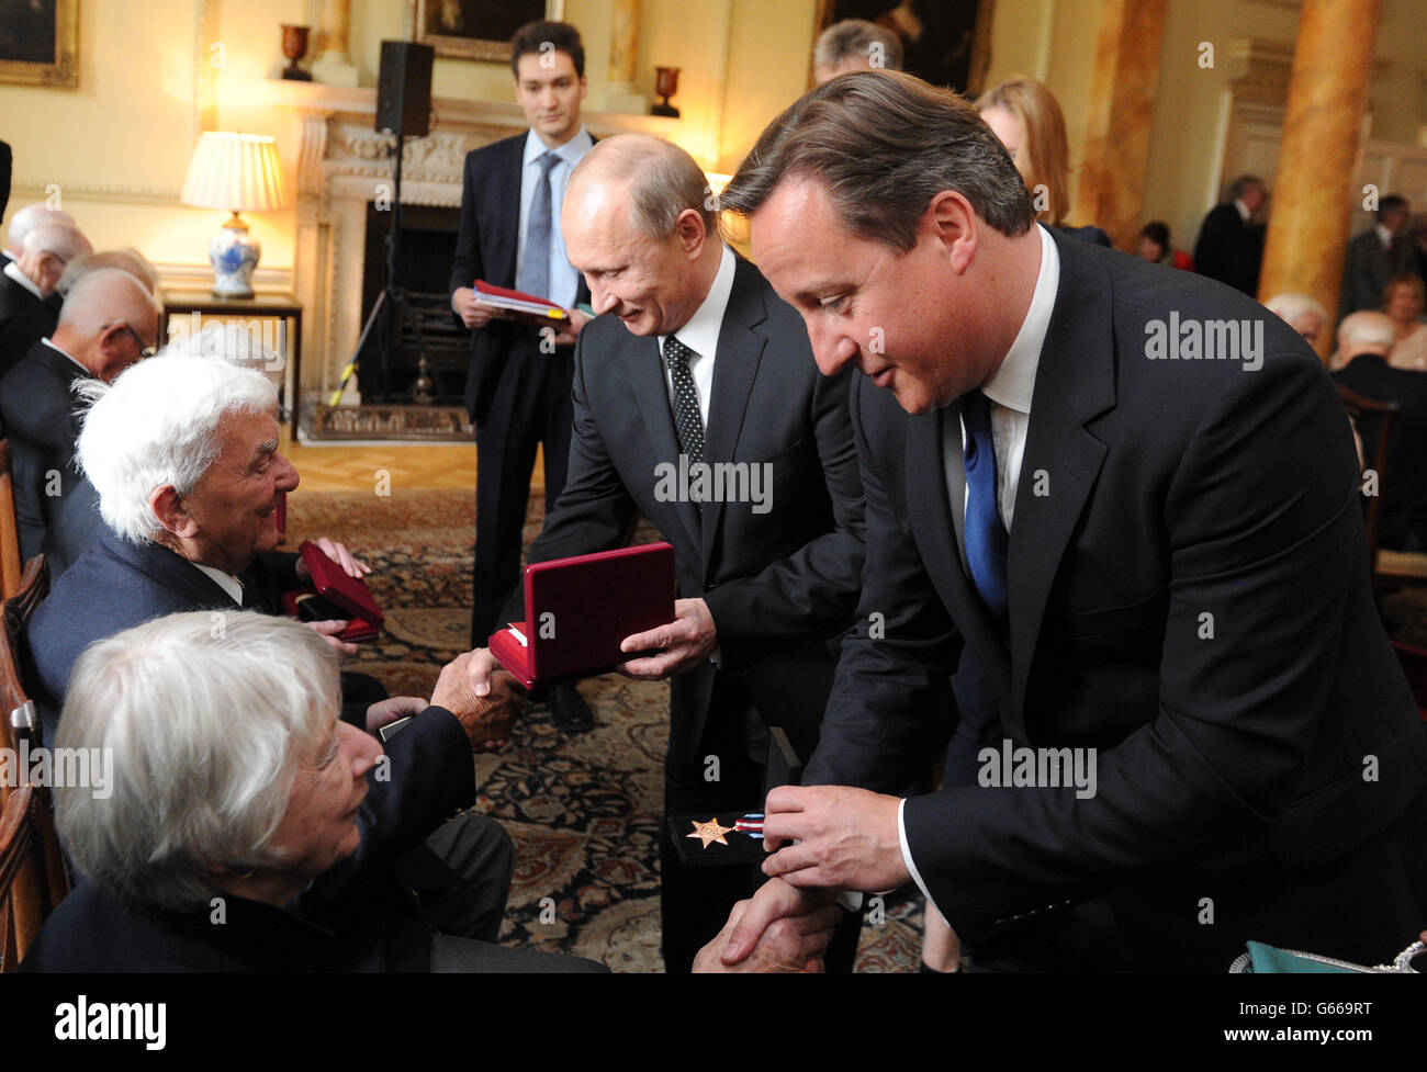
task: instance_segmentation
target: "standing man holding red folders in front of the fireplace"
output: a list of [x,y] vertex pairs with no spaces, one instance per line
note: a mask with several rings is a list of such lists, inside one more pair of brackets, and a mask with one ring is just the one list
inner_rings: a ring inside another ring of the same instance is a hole
[[[502,624],[501,604],[519,577],[535,448],[545,453],[545,509],[565,485],[569,458],[571,346],[589,319],[589,291],[565,255],[559,210],[592,138],[579,120],[585,50],[567,23],[529,23],[511,41],[515,98],[531,128],[467,155],[461,232],[451,267],[451,308],[472,329],[465,405],[475,422],[475,610],[471,646]],[[568,328],[534,326],[475,301],[477,279],[548,298]],[[568,731],[592,726],[572,684],[544,699]]]

